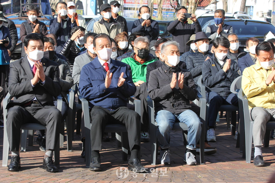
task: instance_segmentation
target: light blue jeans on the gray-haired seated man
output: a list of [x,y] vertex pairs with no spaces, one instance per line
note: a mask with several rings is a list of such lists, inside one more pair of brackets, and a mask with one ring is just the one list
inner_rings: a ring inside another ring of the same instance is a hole
[[186,110],[178,115],[166,110],[161,110],[157,113],[156,122],[158,123],[158,129],[156,135],[160,147],[162,149],[170,147],[170,132],[176,118],[178,118],[181,123],[185,123],[188,126],[186,148],[195,150],[196,144],[201,136],[202,123],[197,114],[191,110]]

